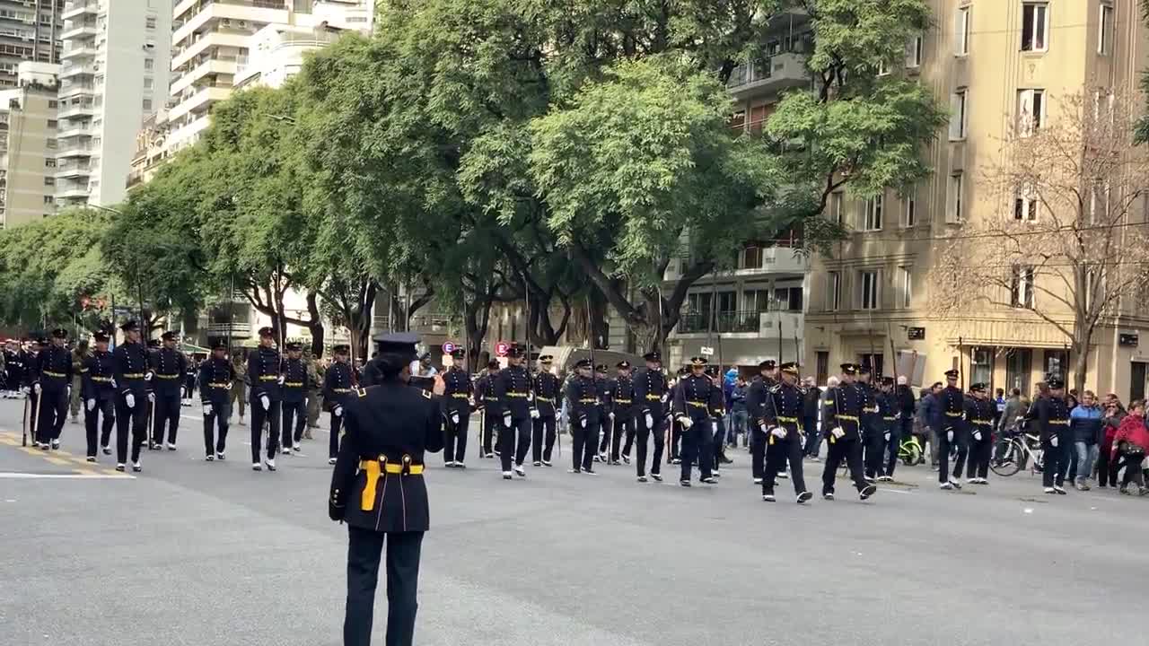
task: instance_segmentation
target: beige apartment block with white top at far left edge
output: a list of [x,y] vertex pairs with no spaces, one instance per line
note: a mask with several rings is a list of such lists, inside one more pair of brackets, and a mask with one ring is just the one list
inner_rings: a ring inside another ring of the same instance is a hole
[[53,200],[60,66],[23,61],[0,90],[0,229],[56,212]]

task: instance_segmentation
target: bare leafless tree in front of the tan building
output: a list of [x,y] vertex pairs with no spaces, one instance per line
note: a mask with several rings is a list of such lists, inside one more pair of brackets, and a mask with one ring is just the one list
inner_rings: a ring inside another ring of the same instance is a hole
[[[1132,94],[1023,97],[998,161],[982,169],[987,208],[939,244],[931,307],[942,320],[1012,308],[1073,353],[1085,387],[1098,326],[1149,285],[1149,149],[1134,141]],[[1066,377],[1067,375],[1063,375]]]

